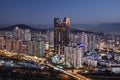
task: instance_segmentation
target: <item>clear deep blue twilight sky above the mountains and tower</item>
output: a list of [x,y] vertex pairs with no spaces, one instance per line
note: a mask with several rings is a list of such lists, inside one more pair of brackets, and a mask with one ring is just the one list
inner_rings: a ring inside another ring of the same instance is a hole
[[53,24],[65,16],[80,24],[120,22],[120,0],[0,0],[0,24]]

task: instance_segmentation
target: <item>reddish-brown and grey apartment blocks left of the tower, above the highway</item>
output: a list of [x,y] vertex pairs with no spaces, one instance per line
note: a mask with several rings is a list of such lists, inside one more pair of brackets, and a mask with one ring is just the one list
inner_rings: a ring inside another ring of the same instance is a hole
[[44,34],[31,32],[30,29],[20,29],[18,26],[12,31],[1,31],[0,49],[43,57],[45,54]]

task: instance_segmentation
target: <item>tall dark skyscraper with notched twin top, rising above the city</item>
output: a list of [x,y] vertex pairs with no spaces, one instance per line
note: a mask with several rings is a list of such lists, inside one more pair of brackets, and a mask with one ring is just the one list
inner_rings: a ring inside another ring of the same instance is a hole
[[54,50],[57,54],[64,54],[64,46],[69,44],[70,18],[54,18]]

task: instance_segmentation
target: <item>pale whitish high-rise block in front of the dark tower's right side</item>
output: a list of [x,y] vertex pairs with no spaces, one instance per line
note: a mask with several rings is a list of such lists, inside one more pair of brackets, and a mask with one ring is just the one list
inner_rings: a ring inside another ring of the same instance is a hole
[[82,67],[83,48],[78,46],[65,47],[65,64],[74,68]]

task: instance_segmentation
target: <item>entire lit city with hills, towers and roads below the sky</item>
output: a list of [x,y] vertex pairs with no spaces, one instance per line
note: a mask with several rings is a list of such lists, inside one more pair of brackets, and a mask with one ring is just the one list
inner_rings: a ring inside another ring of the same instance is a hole
[[120,34],[71,30],[70,20],[54,18],[54,29],[46,31],[26,25],[0,30],[0,78],[120,79]]

